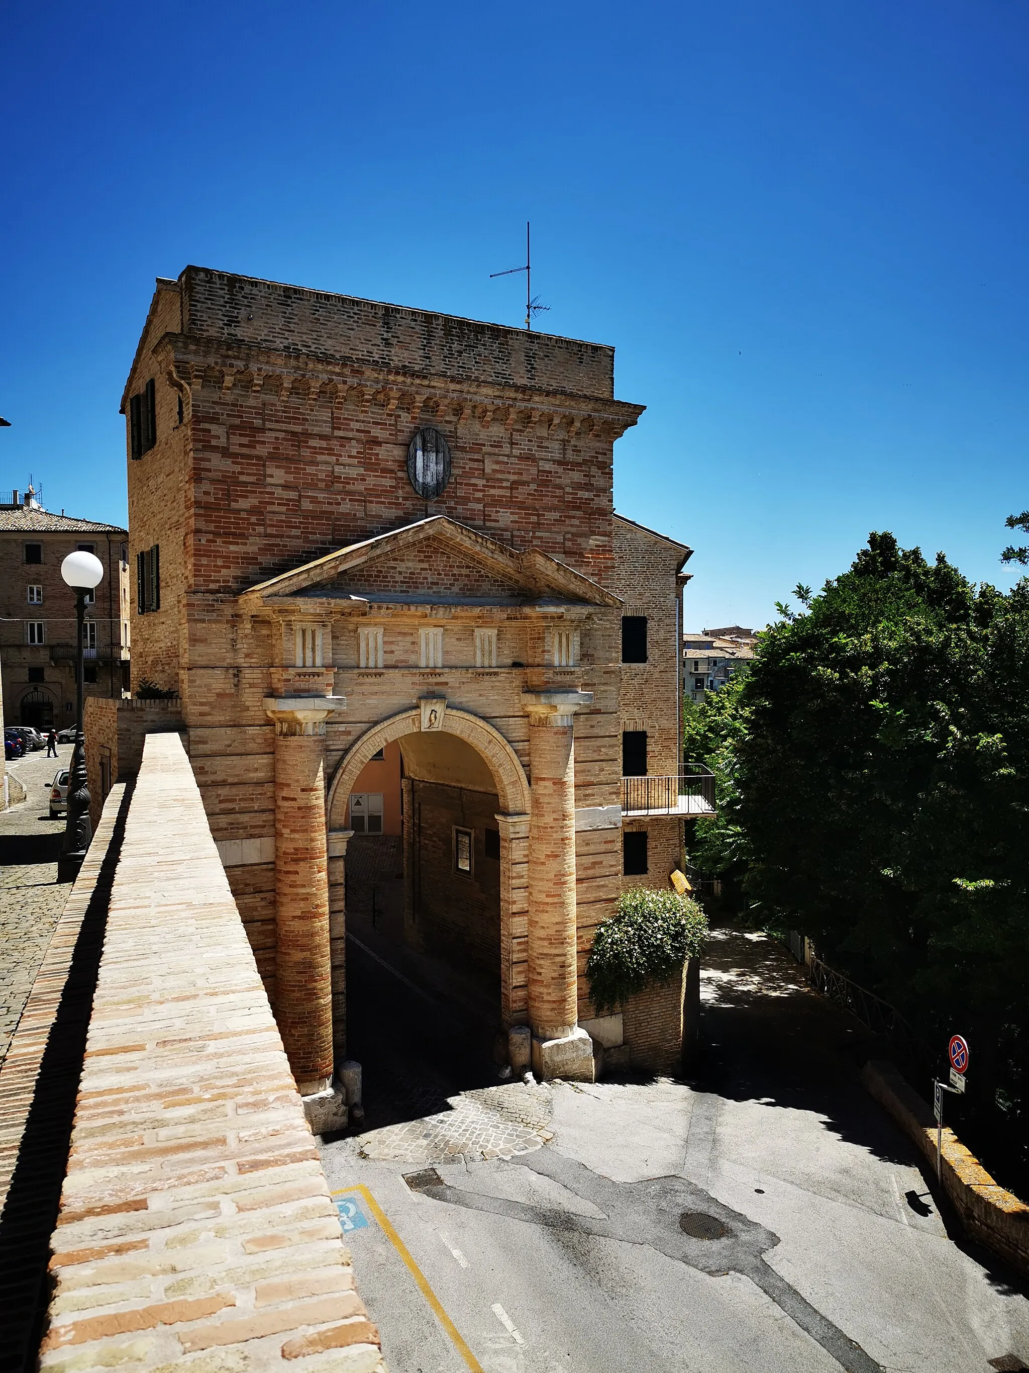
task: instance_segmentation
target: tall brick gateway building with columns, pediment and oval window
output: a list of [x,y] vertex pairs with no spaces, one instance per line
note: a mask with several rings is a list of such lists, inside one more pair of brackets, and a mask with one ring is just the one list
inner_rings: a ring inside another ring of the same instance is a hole
[[[178,692],[300,1090],[344,1056],[347,843],[398,750],[410,938],[494,969],[542,1074],[593,1076],[583,1023],[667,1067],[681,1008],[598,1020],[583,978],[685,805],[690,551],[613,512],[613,349],[187,268],[123,409],[133,678]],[[623,807],[630,774],[667,785]]]

